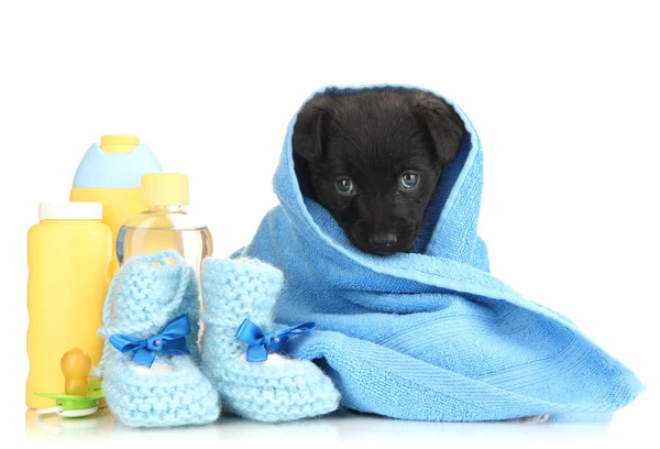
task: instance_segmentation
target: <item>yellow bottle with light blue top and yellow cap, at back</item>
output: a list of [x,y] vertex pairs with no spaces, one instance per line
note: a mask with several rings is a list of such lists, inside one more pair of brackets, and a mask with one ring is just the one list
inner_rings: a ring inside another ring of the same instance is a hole
[[[145,173],[162,172],[152,151],[134,135],[108,134],[101,145],[92,144],[76,172],[72,201],[103,204],[103,222],[112,230],[112,248],[122,223],[144,209],[140,179]],[[114,251],[110,276],[119,270]]]

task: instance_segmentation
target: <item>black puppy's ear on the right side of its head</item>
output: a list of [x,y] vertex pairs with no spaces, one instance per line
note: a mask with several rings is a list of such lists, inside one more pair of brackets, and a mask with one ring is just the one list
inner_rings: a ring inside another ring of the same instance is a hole
[[448,165],[459,152],[465,132],[463,120],[447,101],[430,92],[413,94],[411,108],[433,141],[440,164]]

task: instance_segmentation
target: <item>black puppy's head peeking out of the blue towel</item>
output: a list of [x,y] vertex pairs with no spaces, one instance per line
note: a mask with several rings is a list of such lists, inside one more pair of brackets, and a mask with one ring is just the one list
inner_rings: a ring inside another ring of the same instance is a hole
[[464,132],[443,99],[414,89],[317,94],[294,128],[315,199],[360,250],[408,251]]

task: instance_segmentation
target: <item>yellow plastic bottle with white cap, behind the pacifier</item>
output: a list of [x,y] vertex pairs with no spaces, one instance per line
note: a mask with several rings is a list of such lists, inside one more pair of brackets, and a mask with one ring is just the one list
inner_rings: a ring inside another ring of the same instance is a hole
[[43,202],[40,222],[28,232],[28,358],[25,402],[30,408],[55,405],[34,392],[61,392],[61,362],[79,348],[97,365],[112,258],[112,231],[101,222],[100,202]]

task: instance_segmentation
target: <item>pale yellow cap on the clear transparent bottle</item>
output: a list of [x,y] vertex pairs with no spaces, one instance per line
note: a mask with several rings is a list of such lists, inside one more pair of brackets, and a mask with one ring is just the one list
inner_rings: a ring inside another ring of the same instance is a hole
[[147,173],[142,175],[144,206],[187,206],[188,176],[180,173]]

